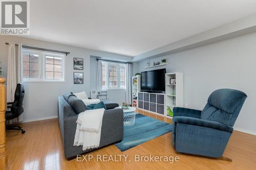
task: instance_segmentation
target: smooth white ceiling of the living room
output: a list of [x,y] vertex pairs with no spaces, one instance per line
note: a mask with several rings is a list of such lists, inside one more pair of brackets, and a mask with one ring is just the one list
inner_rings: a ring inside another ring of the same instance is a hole
[[135,56],[256,13],[255,0],[31,0],[29,38]]

